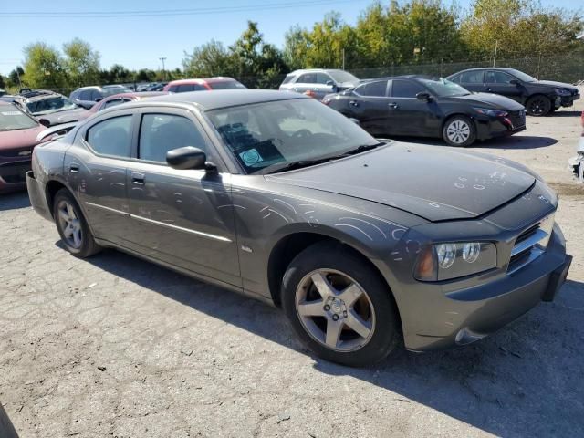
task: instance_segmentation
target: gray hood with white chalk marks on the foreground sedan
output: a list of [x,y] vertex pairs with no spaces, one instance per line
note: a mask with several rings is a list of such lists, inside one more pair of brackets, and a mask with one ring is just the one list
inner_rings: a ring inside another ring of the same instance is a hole
[[496,157],[401,143],[266,180],[385,204],[432,222],[480,216],[535,183]]

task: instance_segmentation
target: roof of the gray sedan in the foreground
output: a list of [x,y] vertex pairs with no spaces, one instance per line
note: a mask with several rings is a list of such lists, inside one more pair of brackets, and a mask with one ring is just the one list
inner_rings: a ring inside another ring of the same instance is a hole
[[[217,110],[240,105],[291,99],[310,98],[300,93],[275,91],[272,89],[218,89],[213,92],[190,91],[187,93],[168,94],[166,96],[148,99],[148,102],[191,103],[201,108],[201,110]],[[130,103],[127,105],[130,105]]]

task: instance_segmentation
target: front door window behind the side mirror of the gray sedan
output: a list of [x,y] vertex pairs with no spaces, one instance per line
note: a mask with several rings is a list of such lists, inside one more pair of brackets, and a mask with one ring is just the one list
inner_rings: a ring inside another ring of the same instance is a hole
[[138,156],[150,162],[166,162],[166,152],[193,146],[209,153],[203,134],[189,120],[172,114],[144,114]]

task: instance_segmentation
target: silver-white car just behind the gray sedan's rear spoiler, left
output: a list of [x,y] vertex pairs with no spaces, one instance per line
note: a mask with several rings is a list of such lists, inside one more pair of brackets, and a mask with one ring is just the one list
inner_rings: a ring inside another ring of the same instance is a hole
[[87,110],[61,94],[49,93],[36,94],[32,98],[23,99],[28,112],[37,119],[47,120],[48,126],[70,123],[85,118]]

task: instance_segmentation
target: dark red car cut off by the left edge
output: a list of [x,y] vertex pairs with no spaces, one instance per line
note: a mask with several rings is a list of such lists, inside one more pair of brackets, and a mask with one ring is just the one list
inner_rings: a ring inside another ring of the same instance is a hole
[[26,187],[36,137],[46,129],[16,105],[0,101],[0,193]]

